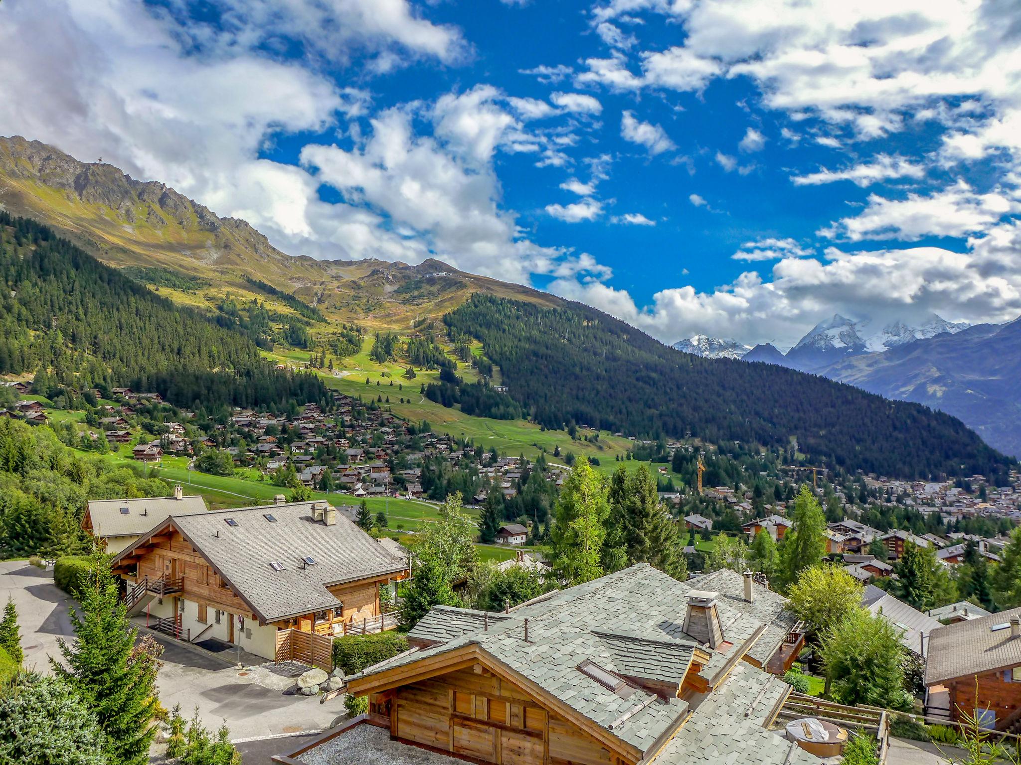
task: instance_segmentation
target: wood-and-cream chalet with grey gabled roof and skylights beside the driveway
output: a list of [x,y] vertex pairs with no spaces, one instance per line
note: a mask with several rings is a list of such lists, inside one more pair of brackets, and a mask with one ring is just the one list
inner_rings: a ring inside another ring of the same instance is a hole
[[325,502],[171,514],[112,566],[129,582],[129,614],[271,660],[290,658],[292,629],[332,638],[395,626],[382,618],[380,588],[408,575],[406,561]]

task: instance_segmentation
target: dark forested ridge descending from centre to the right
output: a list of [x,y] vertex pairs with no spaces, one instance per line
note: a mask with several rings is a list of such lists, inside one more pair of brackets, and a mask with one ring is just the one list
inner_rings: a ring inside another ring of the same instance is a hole
[[790,369],[669,348],[579,303],[475,295],[447,314],[482,341],[509,395],[547,427],[797,449],[814,464],[901,477],[1004,476],[1010,460],[958,419]]

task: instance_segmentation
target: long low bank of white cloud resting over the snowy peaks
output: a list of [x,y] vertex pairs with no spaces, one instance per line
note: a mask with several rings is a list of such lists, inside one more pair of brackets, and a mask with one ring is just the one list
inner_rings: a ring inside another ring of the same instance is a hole
[[745,271],[713,292],[662,290],[647,306],[605,284],[557,279],[558,295],[593,305],[663,341],[685,334],[743,343],[796,343],[821,318],[922,317],[1009,321],[1021,314],[1021,227],[1001,224],[970,242],[966,253],[935,247],[844,253],[824,260],[784,258],[764,277]]

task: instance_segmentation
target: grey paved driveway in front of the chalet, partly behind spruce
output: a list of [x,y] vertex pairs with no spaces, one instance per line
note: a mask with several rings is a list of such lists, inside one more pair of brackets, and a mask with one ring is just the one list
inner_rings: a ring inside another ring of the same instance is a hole
[[[18,611],[26,665],[44,671],[49,657],[59,656],[57,639],[74,638],[67,616],[71,600],[53,584],[52,572],[25,561],[0,561],[0,604],[6,603],[8,595]],[[166,709],[180,704],[186,717],[198,707],[210,730],[226,722],[232,738],[297,733],[332,727],[345,713],[342,696],[321,705],[318,698],[285,695],[291,679],[275,674],[275,668],[239,671],[214,654],[160,642],[164,646],[157,678],[160,703]],[[266,745],[275,749],[271,754],[297,745],[280,746],[278,750]],[[246,757],[245,765],[268,761]]]

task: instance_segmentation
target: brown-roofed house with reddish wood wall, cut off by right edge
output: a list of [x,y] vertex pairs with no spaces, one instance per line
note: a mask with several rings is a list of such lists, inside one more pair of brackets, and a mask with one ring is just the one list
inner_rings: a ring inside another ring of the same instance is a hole
[[1021,720],[1021,608],[933,629],[925,667],[928,697],[949,698],[954,720],[1017,732]]

